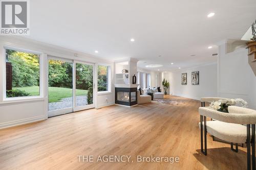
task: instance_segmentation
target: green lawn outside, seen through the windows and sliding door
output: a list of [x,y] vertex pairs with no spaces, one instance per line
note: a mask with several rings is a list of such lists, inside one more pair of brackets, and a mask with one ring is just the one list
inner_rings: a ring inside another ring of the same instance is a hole
[[[39,95],[39,87],[13,87],[13,89],[25,90],[31,95]],[[88,90],[76,90],[76,95],[87,95]],[[72,96],[72,89],[61,87],[49,87],[49,103],[58,102],[63,98]]]

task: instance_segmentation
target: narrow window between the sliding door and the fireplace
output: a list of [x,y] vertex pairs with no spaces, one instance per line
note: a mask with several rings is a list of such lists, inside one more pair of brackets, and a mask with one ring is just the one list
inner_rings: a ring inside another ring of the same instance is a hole
[[98,91],[109,91],[109,66],[98,65]]

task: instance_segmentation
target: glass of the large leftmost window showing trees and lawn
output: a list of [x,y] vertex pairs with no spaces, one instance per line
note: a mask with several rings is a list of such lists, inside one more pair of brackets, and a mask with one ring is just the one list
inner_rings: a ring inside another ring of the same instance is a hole
[[6,49],[6,98],[40,95],[39,55]]

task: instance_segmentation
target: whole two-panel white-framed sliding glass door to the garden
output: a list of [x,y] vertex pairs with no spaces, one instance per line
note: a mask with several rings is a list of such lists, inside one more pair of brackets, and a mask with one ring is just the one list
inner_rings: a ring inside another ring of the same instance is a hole
[[49,117],[94,107],[94,64],[48,57]]

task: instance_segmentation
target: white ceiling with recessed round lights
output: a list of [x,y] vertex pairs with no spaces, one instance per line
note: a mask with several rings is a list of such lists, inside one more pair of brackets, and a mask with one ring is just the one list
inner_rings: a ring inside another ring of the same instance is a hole
[[[142,68],[162,64],[152,68],[160,71],[216,61],[215,44],[241,39],[256,19],[255,0],[33,0],[30,6],[28,38],[104,59],[137,58]],[[216,14],[207,18],[210,12]]]

